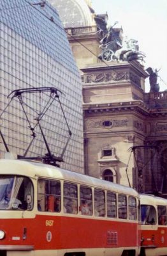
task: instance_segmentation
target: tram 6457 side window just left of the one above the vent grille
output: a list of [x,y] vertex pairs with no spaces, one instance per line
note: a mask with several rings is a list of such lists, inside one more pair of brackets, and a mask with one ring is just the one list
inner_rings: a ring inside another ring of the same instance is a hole
[[94,189],[94,214],[105,217],[105,191]]

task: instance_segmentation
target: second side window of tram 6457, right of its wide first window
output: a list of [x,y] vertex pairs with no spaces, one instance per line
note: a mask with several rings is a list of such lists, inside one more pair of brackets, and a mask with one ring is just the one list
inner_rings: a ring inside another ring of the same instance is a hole
[[78,213],[78,192],[77,186],[73,183],[64,182],[64,212],[77,214]]

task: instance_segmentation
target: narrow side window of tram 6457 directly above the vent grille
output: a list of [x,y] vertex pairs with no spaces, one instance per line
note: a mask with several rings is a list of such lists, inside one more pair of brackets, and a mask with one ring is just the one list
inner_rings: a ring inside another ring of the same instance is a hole
[[107,192],[106,207],[107,207],[107,217],[116,218],[117,217],[117,197],[115,193]]

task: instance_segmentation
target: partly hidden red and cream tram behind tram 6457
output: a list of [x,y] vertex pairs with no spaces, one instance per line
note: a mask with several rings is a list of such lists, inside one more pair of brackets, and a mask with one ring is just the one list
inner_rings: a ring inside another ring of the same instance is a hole
[[142,256],[167,255],[167,200],[140,195],[142,211]]

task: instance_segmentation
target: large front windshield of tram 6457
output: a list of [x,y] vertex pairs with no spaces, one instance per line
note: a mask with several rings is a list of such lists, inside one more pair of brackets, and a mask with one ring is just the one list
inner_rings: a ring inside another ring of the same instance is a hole
[[33,184],[27,177],[0,175],[0,210],[33,209]]

